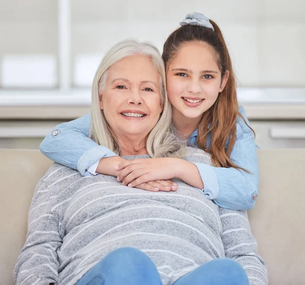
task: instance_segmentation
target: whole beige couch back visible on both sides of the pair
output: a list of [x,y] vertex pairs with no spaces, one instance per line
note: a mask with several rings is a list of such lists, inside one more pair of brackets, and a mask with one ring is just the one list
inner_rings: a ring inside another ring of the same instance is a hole
[[[270,285],[303,285],[305,149],[258,150],[259,198],[249,218]],[[11,285],[27,212],[51,161],[36,150],[0,150],[0,284]]]

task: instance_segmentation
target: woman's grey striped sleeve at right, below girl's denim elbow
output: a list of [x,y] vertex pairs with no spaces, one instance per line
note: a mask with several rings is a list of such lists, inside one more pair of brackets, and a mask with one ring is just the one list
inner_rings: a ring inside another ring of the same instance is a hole
[[249,285],[267,285],[266,264],[257,252],[247,212],[219,208],[219,214],[226,257],[235,260],[245,269]]

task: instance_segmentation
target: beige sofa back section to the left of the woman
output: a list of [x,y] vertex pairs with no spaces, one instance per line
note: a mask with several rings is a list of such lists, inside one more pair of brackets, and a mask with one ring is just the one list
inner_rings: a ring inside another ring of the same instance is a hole
[[52,161],[38,150],[0,150],[0,161],[0,284],[11,285],[32,195]]

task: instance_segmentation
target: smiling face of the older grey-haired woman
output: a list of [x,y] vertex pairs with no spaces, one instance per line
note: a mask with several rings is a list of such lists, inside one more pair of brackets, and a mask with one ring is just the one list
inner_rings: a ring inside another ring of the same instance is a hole
[[128,56],[108,72],[100,108],[117,136],[146,136],[163,107],[159,74],[147,56]]

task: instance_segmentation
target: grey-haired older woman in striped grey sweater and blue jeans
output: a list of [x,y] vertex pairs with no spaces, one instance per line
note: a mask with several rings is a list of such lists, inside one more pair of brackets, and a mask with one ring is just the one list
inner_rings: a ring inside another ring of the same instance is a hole
[[247,213],[181,181],[211,160],[180,145],[170,118],[158,50],[112,47],[93,83],[90,136],[126,159],[185,158],[186,168],[176,191],[153,192],[53,164],[35,190],[17,284],[267,284]]

